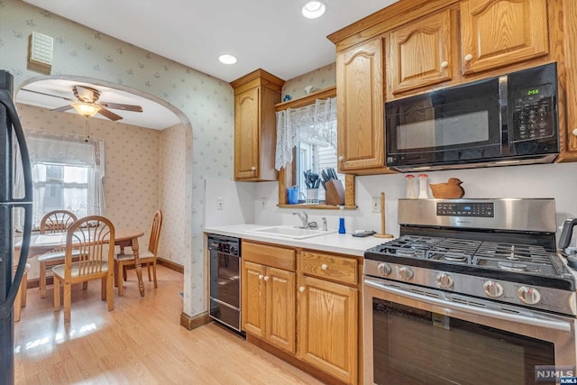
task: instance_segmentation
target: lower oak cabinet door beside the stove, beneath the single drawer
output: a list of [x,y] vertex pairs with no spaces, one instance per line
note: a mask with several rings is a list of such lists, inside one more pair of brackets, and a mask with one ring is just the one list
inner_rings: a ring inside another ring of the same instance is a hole
[[346,383],[357,382],[358,290],[303,277],[299,358]]

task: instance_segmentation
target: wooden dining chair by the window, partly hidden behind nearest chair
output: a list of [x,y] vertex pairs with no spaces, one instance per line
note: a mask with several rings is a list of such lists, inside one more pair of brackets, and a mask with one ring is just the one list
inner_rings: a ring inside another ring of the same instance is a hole
[[[77,219],[77,216],[68,210],[50,211],[50,213],[47,213],[41,219],[40,234],[66,233],[70,225],[72,225]],[[52,249],[50,252],[45,252],[38,257],[41,298],[46,297],[46,271],[52,266],[64,263],[64,250],[64,248]],[[74,254],[75,257],[78,257],[78,251],[75,251]]]

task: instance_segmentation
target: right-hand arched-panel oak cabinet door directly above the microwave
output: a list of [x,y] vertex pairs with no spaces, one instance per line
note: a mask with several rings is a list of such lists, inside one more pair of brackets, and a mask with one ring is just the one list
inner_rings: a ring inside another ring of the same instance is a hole
[[547,54],[546,0],[461,2],[463,73]]

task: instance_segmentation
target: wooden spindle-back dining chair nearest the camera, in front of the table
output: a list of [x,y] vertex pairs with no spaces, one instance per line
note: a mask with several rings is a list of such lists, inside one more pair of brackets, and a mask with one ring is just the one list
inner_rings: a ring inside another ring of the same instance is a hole
[[[72,261],[79,251],[78,261]],[[66,235],[64,264],[52,268],[54,276],[54,311],[60,310],[60,284],[64,287],[64,322],[70,321],[71,287],[75,283],[101,280],[101,298],[108,311],[114,310],[114,225],[104,216],[78,219]]]

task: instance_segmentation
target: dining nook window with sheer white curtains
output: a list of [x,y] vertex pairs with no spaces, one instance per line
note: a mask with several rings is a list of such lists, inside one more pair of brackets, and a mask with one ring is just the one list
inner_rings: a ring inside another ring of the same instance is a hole
[[103,215],[104,141],[26,130],[32,163],[33,227],[66,209],[78,218]]

